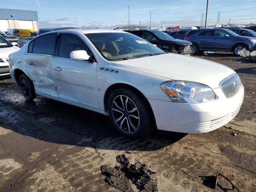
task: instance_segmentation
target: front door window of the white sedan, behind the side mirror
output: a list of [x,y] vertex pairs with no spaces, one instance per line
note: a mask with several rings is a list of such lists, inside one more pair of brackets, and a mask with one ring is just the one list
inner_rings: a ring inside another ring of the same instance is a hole
[[92,55],[89,48],[80,40],[73,35],[63,34],[60,36],[58,56],[64,58],[70,58],[72,51],[85,50],[88,55]]

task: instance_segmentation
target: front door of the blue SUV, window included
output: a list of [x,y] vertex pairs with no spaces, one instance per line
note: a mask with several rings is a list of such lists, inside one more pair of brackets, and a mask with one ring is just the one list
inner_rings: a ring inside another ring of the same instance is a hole
[[214,30],[214,39],[212,42],[212,51],[230,50],[230,37],[225,37],[228,33],[221,30]]

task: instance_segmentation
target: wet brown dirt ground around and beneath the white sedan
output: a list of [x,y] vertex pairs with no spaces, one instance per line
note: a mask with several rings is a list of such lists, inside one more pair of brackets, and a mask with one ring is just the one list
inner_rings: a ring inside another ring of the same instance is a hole
[[241,192],[256,192],[256,63],[233,54],[198,57],[234,69],[245,87],[238,115],[206,134],[156,131],[129,140],[107,116],[41,96],[25,102],[12,80],[0,81],[0,192],[119,191],[100,172],[103,164],[118,165],[118,154],[148,164],[159,192],[236,191],[223,178],[213,189],[203,176],[216,172]]

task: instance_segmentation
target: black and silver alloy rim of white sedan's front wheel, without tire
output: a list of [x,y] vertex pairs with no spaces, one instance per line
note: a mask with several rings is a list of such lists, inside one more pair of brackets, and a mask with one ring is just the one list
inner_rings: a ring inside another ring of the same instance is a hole
[[125,133],[133,133],[139,127],[138,108],[127,96],[119,95],[113,100],[112,115],[118,128]]

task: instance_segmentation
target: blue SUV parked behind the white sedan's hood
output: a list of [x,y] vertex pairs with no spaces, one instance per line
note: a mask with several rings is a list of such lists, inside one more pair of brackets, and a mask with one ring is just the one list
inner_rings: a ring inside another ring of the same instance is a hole
[[256,50],[256,38],[245,37],[228,29],[198,29],[191,30],[184,40],[192,42],[192,54],[204,51],[233,52],[246,48],[249,51]]

